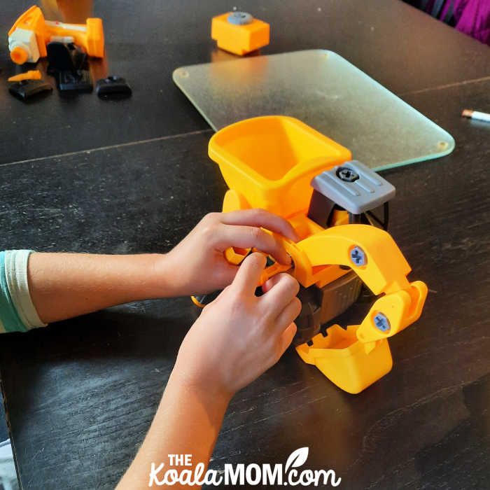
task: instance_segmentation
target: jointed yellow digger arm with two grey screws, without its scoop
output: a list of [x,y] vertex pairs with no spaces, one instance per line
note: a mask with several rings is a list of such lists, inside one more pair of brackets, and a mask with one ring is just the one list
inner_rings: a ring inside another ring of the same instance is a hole
[[[311,235],[296,244],[309,265],[346,265],[376,295],[356,335],[369,344],[391,337],[416,321],[427,296],[421,281],[409,283],[410,267],[400,248],[384,230],[369,225],[340,225]],[[366,346],[367,350],[372,349]]]

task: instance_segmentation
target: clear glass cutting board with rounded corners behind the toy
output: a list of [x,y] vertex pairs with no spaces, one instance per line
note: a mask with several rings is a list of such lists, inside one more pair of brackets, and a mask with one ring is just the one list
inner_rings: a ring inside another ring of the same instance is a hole
[[255,116],[293,116],[376,170],[454,149],[448,132],[332,51],[181,66],[173,78],[215,131]]

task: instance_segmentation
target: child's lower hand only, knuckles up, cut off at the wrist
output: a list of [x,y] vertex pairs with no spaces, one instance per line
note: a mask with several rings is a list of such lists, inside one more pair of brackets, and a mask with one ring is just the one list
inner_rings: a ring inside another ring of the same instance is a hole
[[301,310],[300,286],[289,274],[278,274],[264,284],[264,295],[255,296],[265,262],[260,253],[249,255],[190,328],[173,374],[186,386],[231,398],[288,348]]

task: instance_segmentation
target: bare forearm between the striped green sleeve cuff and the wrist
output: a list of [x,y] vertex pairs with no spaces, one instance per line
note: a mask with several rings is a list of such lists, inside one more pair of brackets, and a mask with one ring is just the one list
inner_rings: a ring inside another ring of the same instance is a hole
[[[131,301],[172,296],[166,255],[31,253],[29,292],[44,323]],[[158,272],[157,272],[158,269]]]

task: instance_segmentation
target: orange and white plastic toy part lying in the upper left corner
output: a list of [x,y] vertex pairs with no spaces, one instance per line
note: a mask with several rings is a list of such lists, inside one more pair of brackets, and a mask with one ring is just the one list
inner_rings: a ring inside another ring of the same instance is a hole
[[104,57],[104,30],[102,20],[87,19],[86,24],[64,24],[44,20],[41,8],[32,6],[25,11],[8,31],[8,49],[14,63],[36,63],[47,55],[50,41],[74,42],[83,46],[87,55]]

